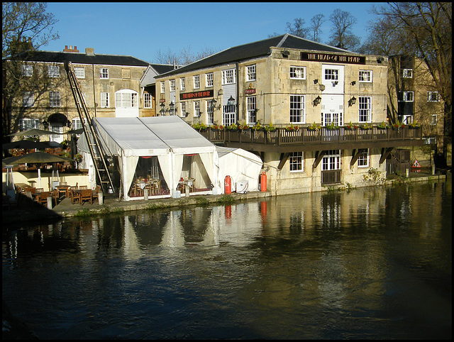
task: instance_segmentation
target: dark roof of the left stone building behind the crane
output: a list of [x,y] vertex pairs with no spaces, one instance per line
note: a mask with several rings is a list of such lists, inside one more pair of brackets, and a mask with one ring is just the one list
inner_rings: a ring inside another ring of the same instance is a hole
[[123,55],[87,55],[86,53],[67,53],[58,51],[28,51],[26,54],[18,55],[18,59],[31,62],[72,62],[94,65],[128,65],[131,67],[148,67],[150,63],[132,56]]

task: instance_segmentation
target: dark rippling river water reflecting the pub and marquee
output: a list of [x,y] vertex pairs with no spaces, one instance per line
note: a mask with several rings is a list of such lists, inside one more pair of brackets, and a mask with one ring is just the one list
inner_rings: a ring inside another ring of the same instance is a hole
[[2,238],[39,338],[451,338],[451,183],[65,219]]

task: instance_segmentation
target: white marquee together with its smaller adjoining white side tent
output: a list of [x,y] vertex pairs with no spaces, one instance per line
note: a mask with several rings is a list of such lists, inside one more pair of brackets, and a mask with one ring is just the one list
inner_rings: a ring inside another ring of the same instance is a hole
[[[262,160],[257,155],[241,148],[216,147],[179,116],[94,118],[93,126],[104,152],[118,157],[124,200],[140,199],[130,197],[129,190],[140,160],[150,157],[157,157],[169,189],[162,197],[172,196],[182,177],[194,177],[196,183],[204,184],[206,194],[223,193],[226,175],[232,179],[232,191],[237,182],[247,182],[248,191],[258,190]],[[90,182],[96,187],[84,135],[77,141],[77,149],[84,160],[82,168],[89,169]]]

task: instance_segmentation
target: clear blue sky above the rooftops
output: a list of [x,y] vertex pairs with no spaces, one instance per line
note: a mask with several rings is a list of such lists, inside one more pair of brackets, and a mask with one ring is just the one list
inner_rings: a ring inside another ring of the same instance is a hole
[[[374,18],[370,3],[336,2],[186,2],[186,3],[48,3],[48,12],[58,23],[60,39],[40,50],[62,51],[65,45],[79,52],[94,48],[95,53],[132,55],[155,62],[158,50],[179,53],[190,47],[192,53],[211,48],[225,50],[236,45],[287,33],[287,22],[323,13],[328,19],[335,9],[350,12],[358,22],[353,33],[367,37],[365,26]],[[322,26],[322,43],[328,41],[331,23]]]

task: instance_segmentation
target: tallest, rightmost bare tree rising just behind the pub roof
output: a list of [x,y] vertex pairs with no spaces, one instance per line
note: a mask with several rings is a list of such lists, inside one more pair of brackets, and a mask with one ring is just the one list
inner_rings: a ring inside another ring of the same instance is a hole
[[351,13],[335,9],[329,20],[333,24],[329,45],[347,50],[355,50],[359,47],[360,38],[352,33],[352,28],[357,20]]

